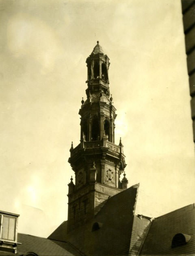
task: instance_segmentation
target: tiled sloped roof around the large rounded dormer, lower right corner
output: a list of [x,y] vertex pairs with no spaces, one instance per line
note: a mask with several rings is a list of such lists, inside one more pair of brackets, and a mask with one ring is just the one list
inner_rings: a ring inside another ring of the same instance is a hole
[[[189,234],[191,241],[186,245],[171,248],[173,236]],[[169,212],[152,221],[152,225],[141,249],[141,256],[190,256],[195,253],[195,207],[188,205]]]

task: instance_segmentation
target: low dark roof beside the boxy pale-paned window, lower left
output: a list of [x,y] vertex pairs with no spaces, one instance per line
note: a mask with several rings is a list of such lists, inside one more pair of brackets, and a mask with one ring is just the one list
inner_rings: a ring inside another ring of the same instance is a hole
[[18,256],[27,252],[34,252],[38,256],[80,256],[81,254],[69,243],[62,241],[52,241],[48,238],[31,236],[18,233],[17,241],[22,243],[17,245],[17,254],[0,252],[1,256]]

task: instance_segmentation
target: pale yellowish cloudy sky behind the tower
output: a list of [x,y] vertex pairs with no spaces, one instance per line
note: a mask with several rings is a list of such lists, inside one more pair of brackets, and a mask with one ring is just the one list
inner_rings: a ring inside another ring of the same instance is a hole
[[180,1],[0,0],[0,210],[20,214],[20,233],[47,237],[67,220],[67,160],[97,40],[138,213],[195,202]]

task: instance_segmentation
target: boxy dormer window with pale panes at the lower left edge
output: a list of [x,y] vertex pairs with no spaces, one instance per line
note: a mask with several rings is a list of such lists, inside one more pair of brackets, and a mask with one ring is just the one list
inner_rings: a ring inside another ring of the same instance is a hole
[[0,250],[16,252],[18,214],[0,211]]

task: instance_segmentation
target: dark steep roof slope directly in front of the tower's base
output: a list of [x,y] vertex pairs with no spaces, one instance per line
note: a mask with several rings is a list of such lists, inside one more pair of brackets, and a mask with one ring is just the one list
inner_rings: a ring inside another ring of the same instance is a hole
[[[68,241],[85,255],[127,256],[139,185],[112,196],[91,220],[68,234]],[[92,231],[94,223],[100,229]]]

